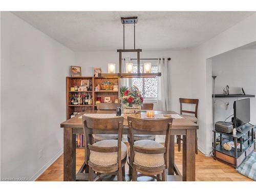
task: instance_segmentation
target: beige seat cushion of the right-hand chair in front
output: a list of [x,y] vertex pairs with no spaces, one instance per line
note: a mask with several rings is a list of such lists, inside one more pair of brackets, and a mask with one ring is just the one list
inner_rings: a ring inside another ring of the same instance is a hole
[[[143,148],[162,148],[163,145],[152,140],[139,140],[134,142],[135,146]],[[159,167],[164,165],[164,154],[134,153],[134,162],[144,167]]]

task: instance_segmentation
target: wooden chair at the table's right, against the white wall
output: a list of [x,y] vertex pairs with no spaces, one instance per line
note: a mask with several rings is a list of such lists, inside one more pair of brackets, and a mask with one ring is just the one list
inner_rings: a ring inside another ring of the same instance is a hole
[[[189,119],[190,121],[193,121],[194,123],[197,123],[198,102],[199,102],[199,99],[180,98],[180,114],[181,114],[181,117],[183,117],[185,119]],[[195,104],[195,111],[182,110],[182,103]],[[193,116],[193,115],[182,115],[182,113],[194,114],[195,116]],[[178,151],[180,152],[182,138],[181,138],[181,135],[177,135],[176,137],[177,137],[177,143],[178,143]],[[196,132],[196,154],[198,154],[197,132]]]

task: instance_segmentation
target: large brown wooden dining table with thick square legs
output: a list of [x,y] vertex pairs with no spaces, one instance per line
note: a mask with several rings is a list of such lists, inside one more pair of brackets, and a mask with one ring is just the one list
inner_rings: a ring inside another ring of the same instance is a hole
[[[84,111],[77,116],[60,123],[60,127],[63,128],[64,137],[64,181],[88,181],[88,166],[83,163],[78,173],[76,174],[76,134],[83,134],[82,116],[83,114],[109,114],[115,113],[115,111]],[[142,111],[141,114],[145,114]],[[155,111],[155,114],[177,114],[174,111]],[[170,131],[170,147],[169,147],[169,169],[167,180],[168,181],[195,181],[196,179],[196,130],[198,125],[188,119],[174,119],[172,129]],[[128,134],[127,119],[123,122],[123,135]],[[102,133],[98,133],[102,134]],[[150,135],[151,133],[143,133]],[[159,132],[157,135],[165,135],[163,132]],[[183,136],[182,147],[182,174],[175,164],[174,144],[175,135]]]

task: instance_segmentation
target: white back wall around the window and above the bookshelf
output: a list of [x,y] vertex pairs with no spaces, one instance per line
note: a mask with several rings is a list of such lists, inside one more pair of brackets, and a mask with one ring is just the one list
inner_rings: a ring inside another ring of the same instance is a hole
[[[190,97],[191,87],[187,80],[189,79],[190,72],[187,70],[190,66],[190,51],[143,51],[141,58],[158,58],[158,57],[171,57],[168,62],[170,71],[170,109],[180,112],[180,97]],[[134,54],[124,54],[123,57],[130,56],[137,58]],[[109,52],[75,52],[75,64],[82,67],[83,76],[91,76],[94,74],[94,67],[101,67],[102,73],[108,72],[108,63],[116,63],[116,71],[119,70],[119,55],[116,51]],[[136,61],[134,61],[136,62]],[[141,60],[144,62],[156,62],[157,60]],[[152,101],[146,101],[152,102]],[[156,103],[155,103],[156,104]]]

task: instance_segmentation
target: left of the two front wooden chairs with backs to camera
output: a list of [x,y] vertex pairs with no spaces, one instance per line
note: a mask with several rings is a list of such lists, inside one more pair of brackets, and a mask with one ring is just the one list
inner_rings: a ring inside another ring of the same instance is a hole
[[[83,116],[83,131],[86,135],[86,161],[89,166],[89,181],[101,180],[105,175],[117,175],[118,181],[125,176],[127,146],[122,140],[123,117],[92,118]],[[89,135],[103,131],[117,133],[118,140],[102,140],[91,144]],[[97,172],[95,177],[94,172]]]

